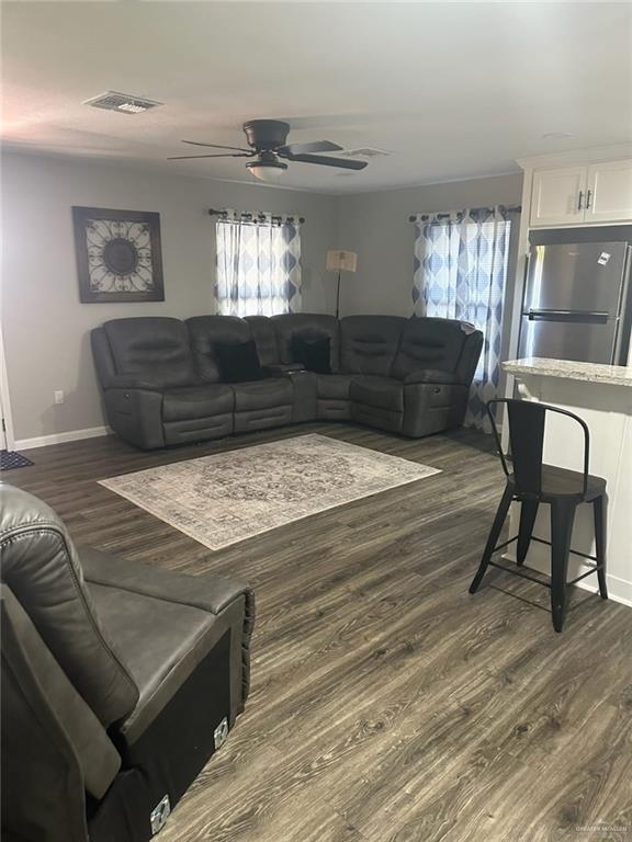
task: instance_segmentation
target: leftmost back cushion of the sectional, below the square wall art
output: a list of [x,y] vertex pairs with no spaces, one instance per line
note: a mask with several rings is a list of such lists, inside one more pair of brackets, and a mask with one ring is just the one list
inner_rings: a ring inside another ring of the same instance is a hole
[[196,382],[187,327],[179,319],[112,319],[103,331],[116,374],[137,375],[156,388]]

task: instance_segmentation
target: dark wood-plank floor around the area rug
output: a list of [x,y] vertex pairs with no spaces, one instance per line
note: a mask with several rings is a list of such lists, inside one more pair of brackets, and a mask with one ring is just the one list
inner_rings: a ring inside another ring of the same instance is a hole
[[[217,553],[97,485],[318,432],[441,468]],[[114,437],[3,475],[78,544],[256,589],[252,692],[160,842],[632,840],[632,610],[475,572],[504,487],[484,437],[309,424],[144,454]]]

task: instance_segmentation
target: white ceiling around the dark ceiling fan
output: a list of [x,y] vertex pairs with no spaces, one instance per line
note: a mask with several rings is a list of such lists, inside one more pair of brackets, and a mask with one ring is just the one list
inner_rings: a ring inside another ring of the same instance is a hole
[[[283,118],[294,143],[392,152],[353,174],[294,163],[283,180],[353,193],[632,137],[629,3],[4,2],[2,16],[8,148],[251,181],[240,159],[165,159]],[[166,104],[81,104],[109,89]]]

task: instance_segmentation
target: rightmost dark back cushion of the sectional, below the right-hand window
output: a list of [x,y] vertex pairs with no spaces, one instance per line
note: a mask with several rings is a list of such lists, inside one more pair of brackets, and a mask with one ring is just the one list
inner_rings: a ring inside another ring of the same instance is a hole
[[473,330],[471,325],[456,319],[414,316],[404,327],[393,377],[404,379],[425,368],[455,372],[465,340]]

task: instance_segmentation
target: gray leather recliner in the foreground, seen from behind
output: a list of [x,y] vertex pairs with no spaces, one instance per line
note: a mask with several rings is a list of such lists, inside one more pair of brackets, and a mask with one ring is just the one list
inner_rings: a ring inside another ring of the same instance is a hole
[[144,842],[244,709],[253,596],[77,553],[0,485],[2,839]]

